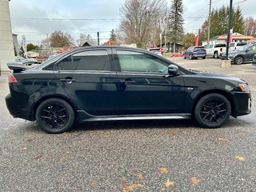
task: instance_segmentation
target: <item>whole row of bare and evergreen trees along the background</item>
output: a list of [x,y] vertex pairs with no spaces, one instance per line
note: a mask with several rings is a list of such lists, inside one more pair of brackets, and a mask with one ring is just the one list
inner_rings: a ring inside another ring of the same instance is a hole
[[[211,10],[210,13],[210,38],[226,34],[228,25],[229,6],[222,6]],[[171,0],[168,6],[167,0],[126,0],[120,8],[122,20],[118,29],[110,32],[110,39],[105,45],[120,45],[122,43],[135,43],[140,48],[150,46],[150,42],[160,45],[164,37],[166,42],[182,44],[186,48],[194,45],[194,33],[184,33],[184,18],[182,0]],[[199,44],[207,39],[208,18],[198,29]],[[244,18],[239,6],[232,8],[231,28],[240,34],[256,36],[256,19]],[[60,30],[54,31],[49,38],[42,41],[42,47],[62,47],[77,45],[84,42],[97,45],[90,34],[80,34],[80,38],[74,41],[68,33]],[[174,49],[175,50],[175,49]]]

